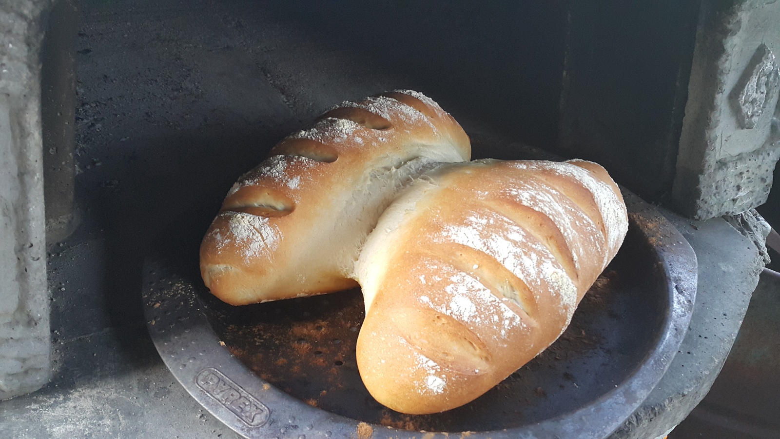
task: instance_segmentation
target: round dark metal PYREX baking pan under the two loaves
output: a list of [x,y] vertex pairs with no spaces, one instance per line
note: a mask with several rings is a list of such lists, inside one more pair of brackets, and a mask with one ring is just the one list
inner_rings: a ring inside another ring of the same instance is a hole
[[607,437],[661,380],[697,285],[683,236],[654,207],[624,196],[626,241],[562,337],[449,412],[404,415],[367,393],[354,354],[360,291],[242,307],[211,296],[197,248],[213,212],[176,219],[147,258],[148,328],[176,379],[244,437]]

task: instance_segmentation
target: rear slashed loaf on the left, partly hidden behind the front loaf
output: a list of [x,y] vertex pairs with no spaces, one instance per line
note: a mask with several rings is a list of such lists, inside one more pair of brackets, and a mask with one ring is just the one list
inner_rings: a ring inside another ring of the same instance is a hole
[[204,283],[232,305],[354,287],[363,241],[399,189],[470,153],[459,124],[420,93],[344,102],[230,189],[200,246]]

